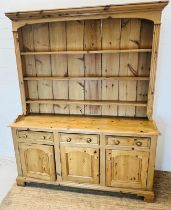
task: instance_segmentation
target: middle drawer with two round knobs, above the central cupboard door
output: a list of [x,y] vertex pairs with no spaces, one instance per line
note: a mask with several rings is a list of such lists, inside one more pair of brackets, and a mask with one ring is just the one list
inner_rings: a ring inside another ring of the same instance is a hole
[[73,143],[87,143],[87,144],[99,144],[99,136],[93,134],[68,134],[61,133],[61,142],[73,142]]

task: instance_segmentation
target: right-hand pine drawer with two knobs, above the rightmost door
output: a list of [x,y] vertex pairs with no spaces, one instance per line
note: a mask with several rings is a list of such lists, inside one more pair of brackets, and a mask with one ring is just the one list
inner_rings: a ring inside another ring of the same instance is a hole
[[149,147],[150,138],[108,136],[107,144],[114,146]]

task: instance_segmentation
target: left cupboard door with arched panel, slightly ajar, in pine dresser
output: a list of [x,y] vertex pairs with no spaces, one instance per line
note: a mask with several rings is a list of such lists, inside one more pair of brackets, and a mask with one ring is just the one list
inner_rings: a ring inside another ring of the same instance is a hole
[[19,144],[23,176],[54,181],[55,161],[53,146]]

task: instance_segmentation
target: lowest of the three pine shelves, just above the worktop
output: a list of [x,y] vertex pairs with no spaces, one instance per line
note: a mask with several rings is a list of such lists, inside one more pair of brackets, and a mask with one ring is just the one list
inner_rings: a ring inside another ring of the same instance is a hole
[[94,105],[94,106],[103,106],[103,105],[122,105],[122,106],[141,106],[146,107],[147,102],[138,102],[138,101],[97,101],[97,100],[60,100],[60,99],[39,99],[39,100],[27,100],[27,104],[80,104],[80,105]]

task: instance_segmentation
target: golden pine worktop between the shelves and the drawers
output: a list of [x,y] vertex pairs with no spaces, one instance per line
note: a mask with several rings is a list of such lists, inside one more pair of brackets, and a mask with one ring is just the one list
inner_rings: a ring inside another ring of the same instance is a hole
[[115,117],[28,115],[19,116],[10,126],[20,129],[107,133],[128,136],[155,136],[159,134],[153,121]]

